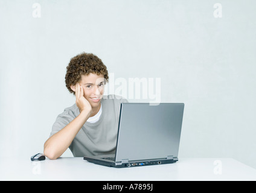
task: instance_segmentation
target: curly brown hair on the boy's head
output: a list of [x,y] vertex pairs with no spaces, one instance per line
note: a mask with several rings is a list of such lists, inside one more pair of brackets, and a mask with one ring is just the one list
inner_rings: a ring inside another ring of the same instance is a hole
[[106,66],[96,55],[82,52],[82,54],[73,57],[66,67],[65,83],[69,92],[75,94],[70,86],[82,80],[82,75],[89,75],[90,73],[102,74],[106,81],[109,80]]

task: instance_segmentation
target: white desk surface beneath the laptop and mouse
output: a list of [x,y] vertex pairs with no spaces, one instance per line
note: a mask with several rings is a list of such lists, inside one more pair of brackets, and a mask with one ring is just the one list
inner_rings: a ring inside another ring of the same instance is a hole
[[256,169],[231,158],[179,158],[176,163],[112,168],[83,157],[31,162],[0,158],[0,180],[256,180]]

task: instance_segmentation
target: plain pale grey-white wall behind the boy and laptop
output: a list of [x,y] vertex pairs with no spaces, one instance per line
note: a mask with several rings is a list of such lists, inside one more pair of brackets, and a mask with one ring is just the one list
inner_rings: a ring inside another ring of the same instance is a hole
[[115,80],[160,78],[161,102],[185,103],[179,157],[232,157],[256,168],[255,7],[0,0],[0,157],[43,152],[57,115],[75,102],[66,66],[91,52]]

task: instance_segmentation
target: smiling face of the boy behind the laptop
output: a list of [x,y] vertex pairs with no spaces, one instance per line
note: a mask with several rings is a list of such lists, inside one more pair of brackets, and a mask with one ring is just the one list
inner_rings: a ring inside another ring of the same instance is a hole
[[100,101],[104,93],[104,75],[89,74],[82,75],[82,80],[79,82],[83,87],[83,96],[89,101],[92,108],[100,106]]

